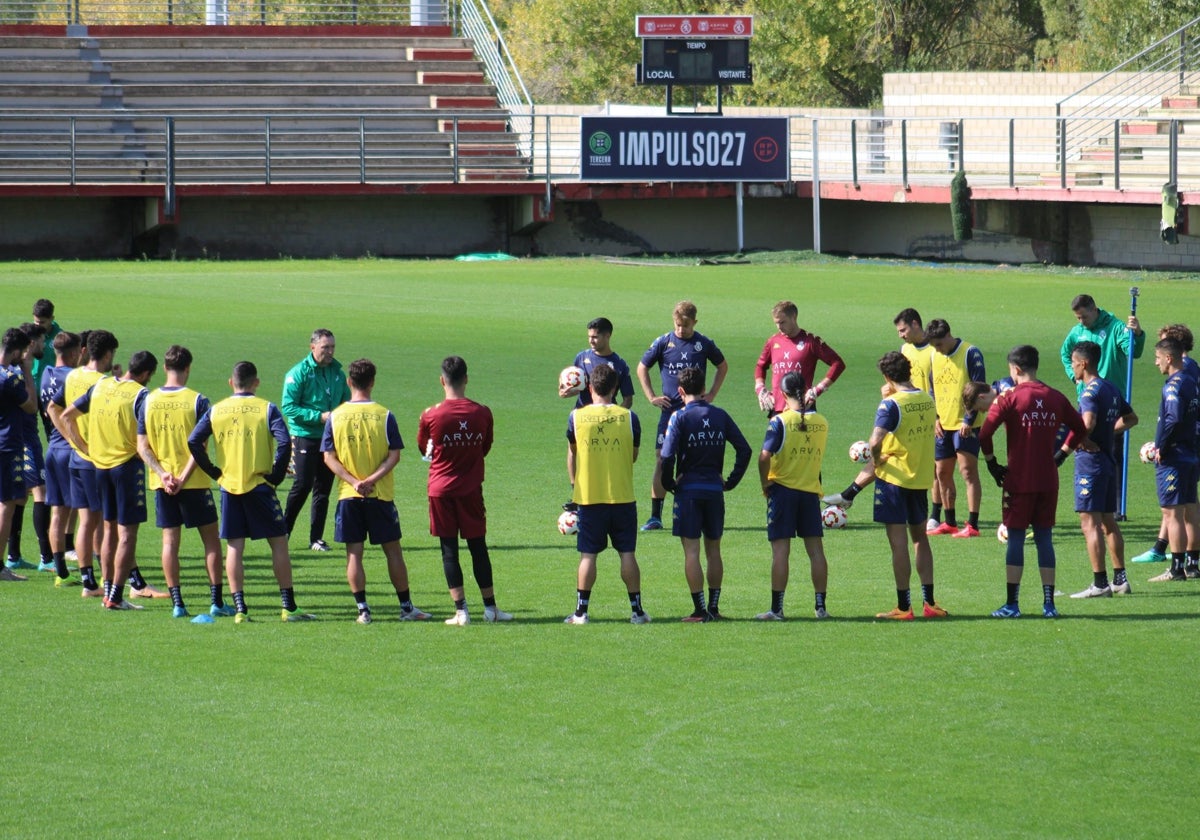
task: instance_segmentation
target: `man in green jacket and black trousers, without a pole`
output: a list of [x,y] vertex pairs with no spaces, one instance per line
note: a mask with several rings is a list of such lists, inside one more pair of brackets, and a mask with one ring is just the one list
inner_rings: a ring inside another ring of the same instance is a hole
[[320,436],[325,432],[329,413],[350,398],[346,373],[334,359],[334,347],[332,332],[313,330],[308,342],[310,353],[288,371],[283,379],[283,400],[280,401],[280,410],[292,433],[292,469],[295,473],[283,517],[290,535],[300,517],[300,509],[308,493],[312,493],[308,547],[313,551],[329,551],[324,539],[325,517],[329,514],[329,493],[334,486],[334,474],[320,454]]

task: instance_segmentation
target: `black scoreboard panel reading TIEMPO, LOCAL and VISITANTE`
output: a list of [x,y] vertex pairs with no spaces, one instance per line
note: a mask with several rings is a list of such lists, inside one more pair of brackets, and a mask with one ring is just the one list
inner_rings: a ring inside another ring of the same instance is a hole
[[749,38],[642,38],[637,84],[754,84]]

